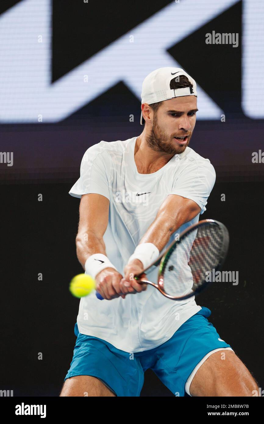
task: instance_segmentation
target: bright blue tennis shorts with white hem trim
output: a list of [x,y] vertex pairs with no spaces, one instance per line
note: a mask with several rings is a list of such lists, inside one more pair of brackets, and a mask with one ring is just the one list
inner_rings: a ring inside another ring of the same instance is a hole
[[167,342],[133,354],[100,338],[79,333],[76,323],[77,340],[64,381],[77,375],[89,375],[100,379],[117,396],[140,396],[144,372],[150,368],[175,396],[190,395],[192,378],[209,352],[231,349],[208,322],[209,315],[211,311],[202,307]]

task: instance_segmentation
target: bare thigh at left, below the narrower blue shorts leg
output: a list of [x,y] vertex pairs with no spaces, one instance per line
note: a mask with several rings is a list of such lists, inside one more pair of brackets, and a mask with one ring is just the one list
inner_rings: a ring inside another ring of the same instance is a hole
[[116,396],[98,378],[78,375],[65,380],[60,396]]

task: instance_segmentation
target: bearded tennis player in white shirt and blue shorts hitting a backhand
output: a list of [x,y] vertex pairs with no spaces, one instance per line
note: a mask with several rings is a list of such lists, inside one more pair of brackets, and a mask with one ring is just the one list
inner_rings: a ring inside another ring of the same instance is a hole
[[[189,147],[193,78],[174,67],[151,72],[141,109],[142,134],[90,147],[69,192],[81,198],[77,256],[104,300],[95,291],[81,298],[60,396],[139,396],[148,368],[175,396],[252,396],[257,382],[208,322],[207,307],[133,278],[199,220],[216,177]],[[147,277],[156,283],[157,271]]]

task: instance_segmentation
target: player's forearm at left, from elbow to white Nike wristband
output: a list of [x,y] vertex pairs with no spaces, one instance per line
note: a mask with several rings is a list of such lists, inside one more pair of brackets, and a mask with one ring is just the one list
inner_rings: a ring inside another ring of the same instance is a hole
[[103,238],[91,231],[78,233],[76,236],[76,254],[83,269],[86,259],[94,253],[106,255],[106,245]]

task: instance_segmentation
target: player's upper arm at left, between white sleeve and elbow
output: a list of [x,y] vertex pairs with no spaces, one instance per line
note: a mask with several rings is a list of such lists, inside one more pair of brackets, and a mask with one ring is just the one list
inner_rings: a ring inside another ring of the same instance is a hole
[[82,195],[78,232],[93,232],[98,237],[103,237],[108,225],[109,204],[108,198],[101,194]]

